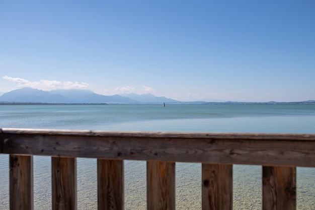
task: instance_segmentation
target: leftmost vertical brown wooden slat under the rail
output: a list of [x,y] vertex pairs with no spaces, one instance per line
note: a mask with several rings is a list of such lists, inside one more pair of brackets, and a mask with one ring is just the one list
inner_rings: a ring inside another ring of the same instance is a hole
[[33,209],[33,156],[10,155],[10,209]]

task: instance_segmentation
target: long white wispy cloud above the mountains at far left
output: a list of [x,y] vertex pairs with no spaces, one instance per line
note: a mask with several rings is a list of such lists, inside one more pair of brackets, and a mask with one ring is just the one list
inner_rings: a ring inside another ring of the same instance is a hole
[[40,81],[28,81],[22,78],[12,78],[4,76],[3,79],[8,80],[16,85],[18,88],[36,88],[39,90],[49,91],[56,89],[88,89],[90,85],[88,83],[79,83],[71,81],[55,81],[55,80],[40,80]]

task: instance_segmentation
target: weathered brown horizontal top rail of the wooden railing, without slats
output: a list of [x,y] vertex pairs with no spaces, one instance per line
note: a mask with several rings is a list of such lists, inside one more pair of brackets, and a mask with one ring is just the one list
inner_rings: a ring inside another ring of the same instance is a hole
[[2,153],[315,167],[315,134],[2,129]]

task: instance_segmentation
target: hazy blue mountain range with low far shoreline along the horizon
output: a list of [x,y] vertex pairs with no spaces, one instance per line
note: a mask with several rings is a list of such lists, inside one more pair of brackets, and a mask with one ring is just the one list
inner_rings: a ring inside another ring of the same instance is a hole
[[45,103],[45,104],[315,104],[315,100],[301,102],[181,102],[166,97],[156,97],[152,94],[120,94],[104,96],[90,90],[70,89],[42,91],[32,88],[22,88],[4,93],[0,96],[2,104]]

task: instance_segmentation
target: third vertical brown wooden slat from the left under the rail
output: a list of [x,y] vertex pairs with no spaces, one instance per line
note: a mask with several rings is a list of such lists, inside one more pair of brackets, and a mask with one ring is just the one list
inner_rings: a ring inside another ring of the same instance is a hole
[[98,209],[124,209],[124,163],[121,160],[97,160]]

